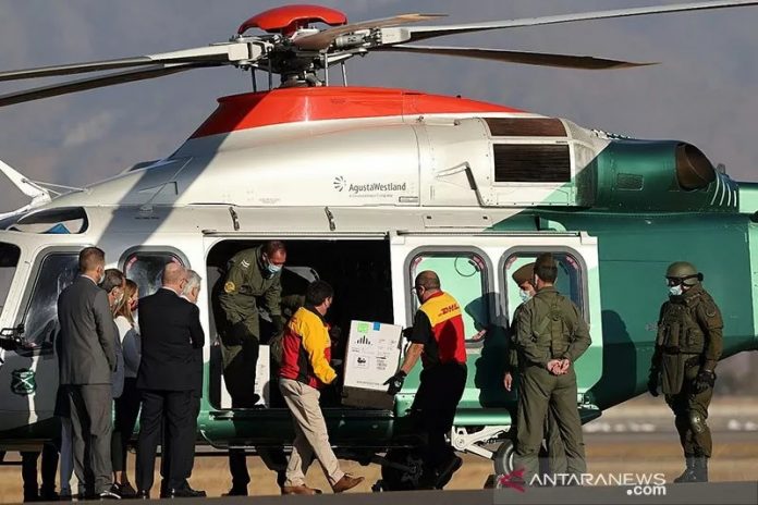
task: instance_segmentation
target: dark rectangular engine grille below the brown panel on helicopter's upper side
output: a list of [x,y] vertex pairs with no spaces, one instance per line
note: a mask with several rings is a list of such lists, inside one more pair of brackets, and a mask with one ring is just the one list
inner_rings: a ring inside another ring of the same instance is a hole
[[571,155],[565,144],[496,144],[496,183],[567,183]]

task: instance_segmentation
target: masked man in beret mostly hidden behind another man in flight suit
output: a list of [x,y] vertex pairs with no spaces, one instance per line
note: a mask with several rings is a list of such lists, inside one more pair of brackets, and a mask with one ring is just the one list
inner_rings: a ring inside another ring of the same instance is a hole
[[[518,349],[516,344],[516,323],[518,319],[518,313],[522,311],[524,304],[535,296],[535,286],[531,284],[535,275],[535,263],[526,263],[518,268],[511,278],[513,282],[519,288],[518,295],[521,296],[522,304],[516,307],[513,311],[513,323],[511,324],[511,341],[509,342],[509,353],[508,353],[508,366],[505,367],[505,377],[503,378],[503,385],[505,391],[511,391],[513,387],[513,377],[515,374],[521,374],[524,371],[523,359],[518,356]],[[565,473],[566,472],[566,452],[563,447],[563,442],[561,441],[561,433],[558,429],[558,422],[555,421],[555,416],[552,415],[550,409],[548,409],[548,417],[545,423],[546,430],[546,445],[548,451],[548,469],[550,473]]]

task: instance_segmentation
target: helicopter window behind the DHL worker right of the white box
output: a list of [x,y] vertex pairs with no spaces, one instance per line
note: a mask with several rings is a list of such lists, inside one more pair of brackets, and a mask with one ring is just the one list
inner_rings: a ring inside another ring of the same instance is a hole
[[[424,270],[432,270],[440,278],[442,290],[450,293],[461,305],[466,342],[478,342],[479,332],[489,325],[488,280],[485,260],[467,251],[424,253],[411,262],[411,285]],[[418,299],[413,296],[414,312]]]

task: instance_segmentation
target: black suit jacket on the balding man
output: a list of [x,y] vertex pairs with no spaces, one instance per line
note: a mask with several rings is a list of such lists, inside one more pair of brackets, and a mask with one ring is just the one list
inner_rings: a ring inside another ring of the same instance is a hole
[[193,391],[197,349],[205,345],[200,310],[171,290],[139,300],[142,360],[137,389]]

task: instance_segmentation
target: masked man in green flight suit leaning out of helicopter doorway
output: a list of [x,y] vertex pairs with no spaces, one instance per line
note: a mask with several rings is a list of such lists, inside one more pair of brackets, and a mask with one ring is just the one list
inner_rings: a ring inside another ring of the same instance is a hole
[[[232,408],[252,408],[255,394],[255,371],[260,345],[258,301],[271,318],[273,334],[284,328],[281,309],[281,270],[286,249],[279,241],[267,242],[253,249],[241,250],[229,261],[219,307],[225,325],[221,338],[223,378],[232,397]],[[229,449],[232,489],[228,495],[246,496],[250,481],[244,449]]]

